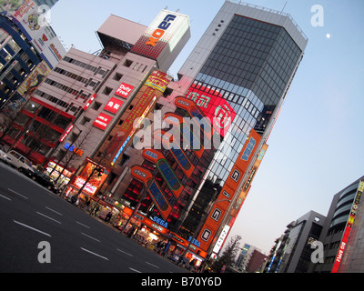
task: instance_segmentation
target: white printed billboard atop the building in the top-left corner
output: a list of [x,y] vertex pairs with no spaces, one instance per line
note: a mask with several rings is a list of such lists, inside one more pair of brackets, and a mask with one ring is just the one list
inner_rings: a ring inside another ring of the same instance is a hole
[[[35,5],[33,0],[3,1],[0,14],[6,15],[32,43],[51,68],[66,55],[66,49],[48,23],[47,5]],[[6,2],[8,3],[7,6]]]

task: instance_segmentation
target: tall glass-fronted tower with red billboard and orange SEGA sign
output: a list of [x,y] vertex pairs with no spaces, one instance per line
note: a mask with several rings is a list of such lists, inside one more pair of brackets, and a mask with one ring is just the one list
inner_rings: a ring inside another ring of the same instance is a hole
[[199,232],[201,248],[238,216],[307,43],[290,15],[227,1],[178,72],[222,141],[181,219],[180,232]]

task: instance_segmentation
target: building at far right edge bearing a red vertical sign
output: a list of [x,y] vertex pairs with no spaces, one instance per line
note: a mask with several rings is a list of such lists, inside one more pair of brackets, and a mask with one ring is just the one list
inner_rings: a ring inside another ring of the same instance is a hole
[[329,207],[319,242],[323,263],[314,262],[310,273],[362,273],[364,271],[364,206],[360,201],[364,176],[337,193]]

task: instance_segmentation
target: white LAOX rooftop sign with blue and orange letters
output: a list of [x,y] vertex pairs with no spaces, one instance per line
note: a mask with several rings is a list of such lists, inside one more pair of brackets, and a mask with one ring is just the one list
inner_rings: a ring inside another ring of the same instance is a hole
[[187,15],[162,10],[157,18],[137,40],[131,51],[157,59],[159,55],[170,54],[189,29]]

